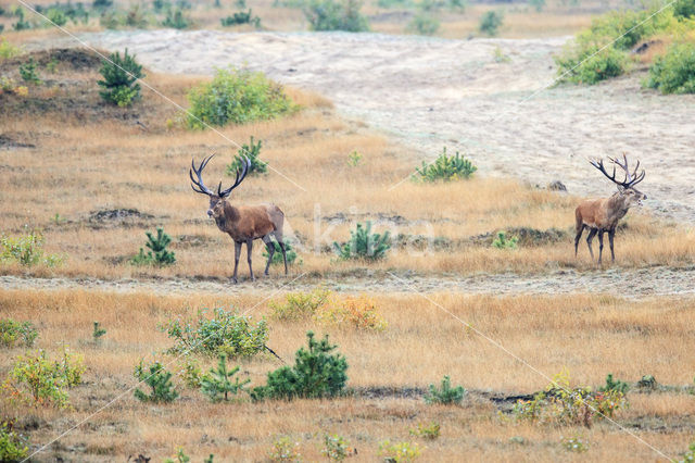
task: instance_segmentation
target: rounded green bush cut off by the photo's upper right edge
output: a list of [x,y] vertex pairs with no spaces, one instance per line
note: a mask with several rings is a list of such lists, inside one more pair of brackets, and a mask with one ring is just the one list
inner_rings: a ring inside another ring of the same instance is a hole
[[695,93],[695,43],[674,43],[649,68],[646,85],[662,93]]

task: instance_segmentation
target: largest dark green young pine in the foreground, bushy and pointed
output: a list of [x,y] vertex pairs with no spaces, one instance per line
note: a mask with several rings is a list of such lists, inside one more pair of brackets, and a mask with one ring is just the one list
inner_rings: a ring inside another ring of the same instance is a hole
[[268,373],[267,384],[252,389],[254,400],[317,399],[334,397],[343,391],[348,380],[345,358],[331,353],[337,346],[328,342],[328,336],[316,341],[314,333],[308,331],[306,337],[308,350],[300,348],[296,351],[293,366]]

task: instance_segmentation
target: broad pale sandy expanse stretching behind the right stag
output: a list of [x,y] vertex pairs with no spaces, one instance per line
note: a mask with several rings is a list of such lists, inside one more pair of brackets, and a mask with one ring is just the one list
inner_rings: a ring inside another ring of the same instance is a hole
[[[647,170],[645,207],[695,221],[695,96],[664,97],[640,86],[643,73],[594,87],[553,83],[552,39],[444,40],[376,34],[232,34],[211,30],[108,32],[81,38],[128,48],[155,71],[211,74],[247,63],[274,79],[319,91],[432,159],[460,150],[482,175],[532,184],[560,179],[583,196],[611,185],[587,163],[623,151]],[[495,49],[510,58],[497,63]],[[416,165],[420,160],[410,160]]]

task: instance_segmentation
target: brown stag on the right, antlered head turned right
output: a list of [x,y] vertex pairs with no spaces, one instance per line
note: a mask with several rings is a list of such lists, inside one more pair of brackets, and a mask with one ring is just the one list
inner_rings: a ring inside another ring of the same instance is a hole
[[[577,256],[577,248],[579,247],[579,239],[584,232],[584,228],[589,228],[589,236],[586,237],[586,245],[589,246],[589,253],[592,261],[594,260],[594,251],[591,249],[591,242],[594,236],[598,234],[598,264],[601,264],[601,258],[604,250],[604,233],[608,232],[608,241],[610,243],[610,260],[616,260],[616,253],[612,250],[612,240],[616,236],[616,226],[618,221],[628,213],[628,210],[634,204],[642,204],[643,199],[647,199],[647,196],[637,190],[634,186],[644,179],[644,170],[637,174],[640,167],[640,161],[634,167],[632,174],[628,168],[628,157],[622,155],[623,163],[620,163],[618,159],[608,158],[612,163],[612,175],[608,175],[604,161],[590,161],[591,165],[596,167],[608,177],[614,184],[618,186],[616,191],[610,198],[586,200],[577,207],[574,210],[574,216],[577,218],[577,237],[574,238],[574,256]],[[616,180],[616,165],[622,168],[626,173],[622,182]]]

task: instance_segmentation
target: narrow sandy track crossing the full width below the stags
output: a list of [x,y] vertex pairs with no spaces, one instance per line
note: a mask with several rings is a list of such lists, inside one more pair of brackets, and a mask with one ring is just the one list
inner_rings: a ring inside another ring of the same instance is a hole
[[[628,285],[627,281],[630,281]],[[695,267],[653,267],[641,270],[608,268],[594,272],[557,271],[543,275],[480,274],[475,276],[412,276],[406,274],[328,277],[317,280],[307,275],[290,275],[287,279],[270,277],[239,285],[224,280],[173,278],[102,280],[97,278],[30,278],[0,276],[0,287],[10,289],[72,289],[113,292],[173,293],[249,293],[271,295],[275,291],[311,290],[325,286],[342,292],[438,292],[493,295],[610,293],[641,299],[654,296],[695,296]]]

